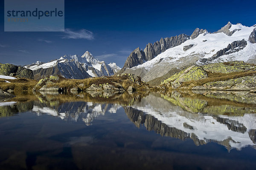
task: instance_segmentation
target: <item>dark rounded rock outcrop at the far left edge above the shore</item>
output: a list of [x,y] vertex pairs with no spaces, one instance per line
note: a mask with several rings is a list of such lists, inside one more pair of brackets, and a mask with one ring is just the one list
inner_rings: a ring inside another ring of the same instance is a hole
[[18,76],[21,78],[34,79],[31,69],[15,66],[13,64],[0,63],[0,75]]

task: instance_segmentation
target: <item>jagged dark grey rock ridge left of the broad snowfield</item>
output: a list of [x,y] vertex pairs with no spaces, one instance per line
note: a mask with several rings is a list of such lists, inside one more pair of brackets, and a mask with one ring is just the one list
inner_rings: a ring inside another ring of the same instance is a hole
[[145,61],[150,61],[160,53],[166,51],[166,49],[175,47],[184,43],[189,39],[189,35],[181,34],[174,37],[161,38],[154,44],[148,43],[144,50],[140,50],[138,47],[135,49],[125,61],[123,66],[123,71],[125,68],[131,68],[144,63]]

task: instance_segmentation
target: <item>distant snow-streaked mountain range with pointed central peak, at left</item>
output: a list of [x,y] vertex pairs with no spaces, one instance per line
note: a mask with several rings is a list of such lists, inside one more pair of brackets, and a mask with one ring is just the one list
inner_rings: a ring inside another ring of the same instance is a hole
[[33,70],[35,79],[41,79],[47,75],[61,75],[64,78],[73,79],[111,76],[120,69],[116,63],[106,64],[105,61],[93,58],[88,51],[81,57],[79,55],[64,55],[58,60],[48,63],[37,61],[25,67]]

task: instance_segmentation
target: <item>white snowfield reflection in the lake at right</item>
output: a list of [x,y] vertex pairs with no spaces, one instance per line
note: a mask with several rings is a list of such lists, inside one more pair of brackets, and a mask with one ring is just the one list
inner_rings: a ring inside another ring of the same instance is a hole
[[[155,98],[154,100],[163,99]],[[150,96],[147,96],[132,107],[152,115],[168,127],[175,127],[190,135],[194,133],[199,140],[206,143],[210,141],[224,143],[224,140],[231,138],[232,140],[228,140],[230,147],[238,150],[248,145],[255,145],[253,143],[255,141],[250,138],[249,130],[256,129],[256,114],[244,114],[243,116],[202,115],[184,111],[177,106],[163,108],[152,101]],[[193,128],[188,128],[184,124]]]

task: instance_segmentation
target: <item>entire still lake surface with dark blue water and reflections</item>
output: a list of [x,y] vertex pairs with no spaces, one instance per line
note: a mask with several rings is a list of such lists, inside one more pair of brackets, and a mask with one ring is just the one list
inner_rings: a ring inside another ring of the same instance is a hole
[[0,169],[250,169],[256,95],[32,93],[0,103]]

